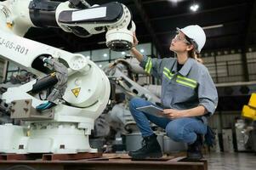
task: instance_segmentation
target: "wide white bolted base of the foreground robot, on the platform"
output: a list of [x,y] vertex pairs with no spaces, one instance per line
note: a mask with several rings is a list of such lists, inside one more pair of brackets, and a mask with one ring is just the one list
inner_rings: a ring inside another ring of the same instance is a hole
[[30,129],[12,124],[1,125],[0,152],[15,154],[97,152],[90,147],[85,129],[78,129],[76,124],[34,122]]

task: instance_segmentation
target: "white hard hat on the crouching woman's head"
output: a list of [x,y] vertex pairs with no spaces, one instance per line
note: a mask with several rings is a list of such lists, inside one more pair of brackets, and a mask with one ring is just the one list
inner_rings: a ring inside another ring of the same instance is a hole
[[204,31],[202,30],[202,27],[197,25],[192,25],[192,26],[186,26],[182,29],[177,28],[177,30],[182,31],[186,37],[189,37],[193,42],[196,42],[196,46],[197,46],[196,52],[200,53],[206,41],[206,36]]

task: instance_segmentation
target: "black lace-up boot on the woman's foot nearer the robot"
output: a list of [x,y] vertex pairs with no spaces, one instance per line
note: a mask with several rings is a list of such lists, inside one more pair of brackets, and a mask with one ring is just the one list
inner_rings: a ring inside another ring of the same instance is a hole
[[134,159],[162,157],[162,149],[156,137],[157,137],[156,134],[152,134],[151,136],[144,137],[141,143],[142,148],[136,151],[130,151],[128,153],[128,156],[131,156]]

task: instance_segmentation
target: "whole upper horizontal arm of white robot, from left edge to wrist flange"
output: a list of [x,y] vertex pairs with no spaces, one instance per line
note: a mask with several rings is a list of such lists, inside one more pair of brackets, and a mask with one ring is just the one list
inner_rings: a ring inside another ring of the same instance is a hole
[[106,31],[106,45],[112,50],[123,51],[132,47],[135,25],[126,6],[113,2],[91,7],[83,3],[86,1],[7,0],[0,3],[5,19],[1,20],[1,30],[22,37],[31,26],[59,27],[78,37]]

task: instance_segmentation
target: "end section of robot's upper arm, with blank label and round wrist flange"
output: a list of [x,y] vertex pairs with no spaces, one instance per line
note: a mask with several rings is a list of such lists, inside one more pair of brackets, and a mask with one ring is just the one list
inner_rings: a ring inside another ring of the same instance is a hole
[[135,25],[128,8],[122,3],[106,3],[82,10],[66,9],[67,5],[63,3],[56,9],[58,25],[63,30],[79,37],[107,31],[105,38],[108,48],[114,51],[132,48]]

